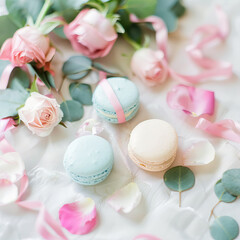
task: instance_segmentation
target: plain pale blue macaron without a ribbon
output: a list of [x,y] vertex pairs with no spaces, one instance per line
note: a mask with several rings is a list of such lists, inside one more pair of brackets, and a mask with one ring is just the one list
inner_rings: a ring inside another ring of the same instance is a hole
[[75,182],[95,185],[110,174],[113,160],[113,150],[107,140],[96,135],[87,135],[70,143],[63,165]]

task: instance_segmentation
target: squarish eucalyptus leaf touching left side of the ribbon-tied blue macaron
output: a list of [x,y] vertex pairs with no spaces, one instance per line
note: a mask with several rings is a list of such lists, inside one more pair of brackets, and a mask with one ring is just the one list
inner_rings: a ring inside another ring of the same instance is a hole
[[69,92],[73,100],[83,105],[92,105],[91,86],[85,83],[71,83]]

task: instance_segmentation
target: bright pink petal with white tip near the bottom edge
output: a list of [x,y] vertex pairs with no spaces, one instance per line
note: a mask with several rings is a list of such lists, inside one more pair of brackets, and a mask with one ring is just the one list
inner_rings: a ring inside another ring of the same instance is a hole
[[63,205],[59,210],[59,219],[64,228],[72,234],[87,234],[97,222],[97,211],[91,198]]

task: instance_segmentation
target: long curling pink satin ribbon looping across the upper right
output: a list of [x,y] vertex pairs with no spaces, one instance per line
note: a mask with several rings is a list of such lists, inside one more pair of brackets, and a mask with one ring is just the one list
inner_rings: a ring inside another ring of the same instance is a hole
[[[232,65],[228,62],[218,61],[204,56],[205,47],[210,47],[216,41],[224,41],[229,32],[228,19],[220,7],[216,7],[216,14],[219,24],[204,25],[196,29],[193,34],[191,44],[187,47],[187,53],[198,66],[207,69],[197,75],[183,75],[176,73],[168,66],[169,75],[176,80],[186,81],[192,84],[203,82],[208,79],[226,79],[232,76]],[[162,19],[151,16],[145,19],[138,19],[130,16],[132,22],[150,22],[156,31],[156,42],[158,48],[164,53],[165,62],[167,59],[167,28]]]

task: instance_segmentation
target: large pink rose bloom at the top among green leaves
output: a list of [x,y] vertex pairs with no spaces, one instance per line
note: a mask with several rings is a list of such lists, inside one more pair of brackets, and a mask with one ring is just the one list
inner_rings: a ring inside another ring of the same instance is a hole
[[82,10],[64,33],[76,51],[92,59],[106,56],[117,39],[111,22],[96,9]]

